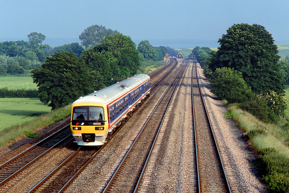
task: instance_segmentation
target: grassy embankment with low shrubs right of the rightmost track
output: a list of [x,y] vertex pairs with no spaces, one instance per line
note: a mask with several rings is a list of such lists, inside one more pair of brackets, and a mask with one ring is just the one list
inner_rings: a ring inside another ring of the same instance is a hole
[[257,153],[257,166],[269,192],[289,192],[289,124],[266,124],[234,104],[223,103],[239,127],[247,132],[252,149]]

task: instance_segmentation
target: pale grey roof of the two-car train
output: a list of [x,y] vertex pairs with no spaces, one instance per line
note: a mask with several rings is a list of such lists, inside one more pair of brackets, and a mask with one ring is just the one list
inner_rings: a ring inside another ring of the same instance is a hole
[[138,74],[133,77],[127,78],[123,81],[115,83],[111,86],[103,88],[97,92],[93,92],[86,96],[83,96],[74,103],[85,103],[85,102],[97,102],[97,103],[110,103],[114,99],[121,97],[129,90],[133,89],[134,87],[138,86],[141,82],[148,80],[150,77],[145,74]]

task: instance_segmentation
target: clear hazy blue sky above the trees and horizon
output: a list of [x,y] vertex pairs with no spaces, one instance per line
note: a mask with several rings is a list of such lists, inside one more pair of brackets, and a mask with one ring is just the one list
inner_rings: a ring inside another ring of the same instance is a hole
[[47,40],[77,40],[87,27],[103,25],[136,44],[172,40],[175,45],[200,42],[214,47],[209,44],[218,45],[232,25],[256,23],[272,34],[275,43],[285,43],[288,7],[288,0],[0,0],[0,41],[27,41],[34,31]]

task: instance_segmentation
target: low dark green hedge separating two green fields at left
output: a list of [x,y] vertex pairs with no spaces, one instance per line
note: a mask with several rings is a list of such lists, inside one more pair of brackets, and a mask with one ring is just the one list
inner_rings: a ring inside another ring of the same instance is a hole
[[0,88],[0,98],[38,98],[36,89],[11,89]]

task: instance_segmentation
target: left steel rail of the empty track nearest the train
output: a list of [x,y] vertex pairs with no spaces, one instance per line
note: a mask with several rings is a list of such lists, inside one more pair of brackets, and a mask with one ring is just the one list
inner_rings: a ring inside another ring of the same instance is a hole
[[[181,70],[179,70],[180,72]],[[179,74],[179,72],[177,73],[177,75]],[[149,120],[151,119],[153,113],[155,112],[155,110],[157,109],[158,105],[160,104],[160,102],[162,101],[164,95],[166,94],[166,92],[169,90],[169,88],[171,87],[171,85],[173,84],[174,80],[176,79],[177,75],[175,76],[175,78],[173,79],[173,81],[171,82],[170,86],[168,86],[168,88],[166,89],[166,91],[164,92],[163,96],[161,97],[161,99],[159,100],[159,102],[157,103],[157,105],[155,106],[153,112],[150,114],[149,118],[147,119],[146,123],[144,124],[144,126],[142,127],[142,129],[140,130],[138,136],[135,138],[133,144],[131,145],[131,147],[129,148],[129,150],[127,151],[127,153],[125,154],[125,157],[123,158],[123,160],[121,161],[121,163],[119,164],[118,168],[116,169],[116,171],[114,172],[114,175],[111,177],[110,181],[108,182],[108,184],[106,185],[105,189],[103,190],[103,192],[107,192],[108,188],[111,186],[112,181],[114,180],[116,174],[118,173],[118,171],[121,169],[121,166],[123,165],[123,163],[125,162],[125,160],[127,159],[129,153],[131,152],[131,150],[133,149],[134,145],[136,144],[136,141],[138,140],[139,136],[141,135],[142,131],[144,130],[145,126],[147,125],[147,123],[149,122]],[[159,127],[160,129],[160,127]]]

